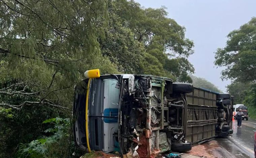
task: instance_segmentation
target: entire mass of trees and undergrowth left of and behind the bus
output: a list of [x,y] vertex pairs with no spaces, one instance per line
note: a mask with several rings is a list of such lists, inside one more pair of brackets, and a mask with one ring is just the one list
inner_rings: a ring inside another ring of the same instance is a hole
[[192,82],[194,44],[167,14],[126,0],[0,1],[0,157],[71,157],[61,118],[86,70]]

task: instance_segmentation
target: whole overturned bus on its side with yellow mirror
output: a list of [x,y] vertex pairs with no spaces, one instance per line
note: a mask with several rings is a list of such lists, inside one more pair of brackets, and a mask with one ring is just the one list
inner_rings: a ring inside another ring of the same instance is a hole
[[122,157],[186,152],[232,133],[232,97],[152,75],[99,75],[75,87],[76,146]]

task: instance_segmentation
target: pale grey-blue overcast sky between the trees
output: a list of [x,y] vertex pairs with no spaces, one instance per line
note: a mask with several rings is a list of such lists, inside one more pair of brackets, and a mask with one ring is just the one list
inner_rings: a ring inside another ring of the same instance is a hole
[[226,45],[230,31],[239,29],[256,16],[255,0],[135,0],[145,8],[167,7],[168,17],[186,28],[186,38],[194,41],[189,61],[195,76],[205,78],[223,92],[230,80],[222,81],[214,65],[214,52]]

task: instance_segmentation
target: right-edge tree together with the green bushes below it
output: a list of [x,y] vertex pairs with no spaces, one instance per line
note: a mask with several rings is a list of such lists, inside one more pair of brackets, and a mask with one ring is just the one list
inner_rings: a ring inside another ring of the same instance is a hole
[[256,118],[256,17],[227,37],[226,47],[215,53],[215,65],[226,67],[222,79],[234,81],[227,88],[235,103],[248,106],[249,116]]

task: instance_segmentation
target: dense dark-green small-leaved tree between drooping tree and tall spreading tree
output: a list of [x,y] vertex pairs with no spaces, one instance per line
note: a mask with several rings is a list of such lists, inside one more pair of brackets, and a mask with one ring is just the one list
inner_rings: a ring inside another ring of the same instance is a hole
[[110,1],[109,27],[105,28],[105,37],[99,39],[101,53],[117,66],[120,73],[136,74],[145,49],[134,39],[132,31],[122,25],[122,19],[115,9],[114,2]]

